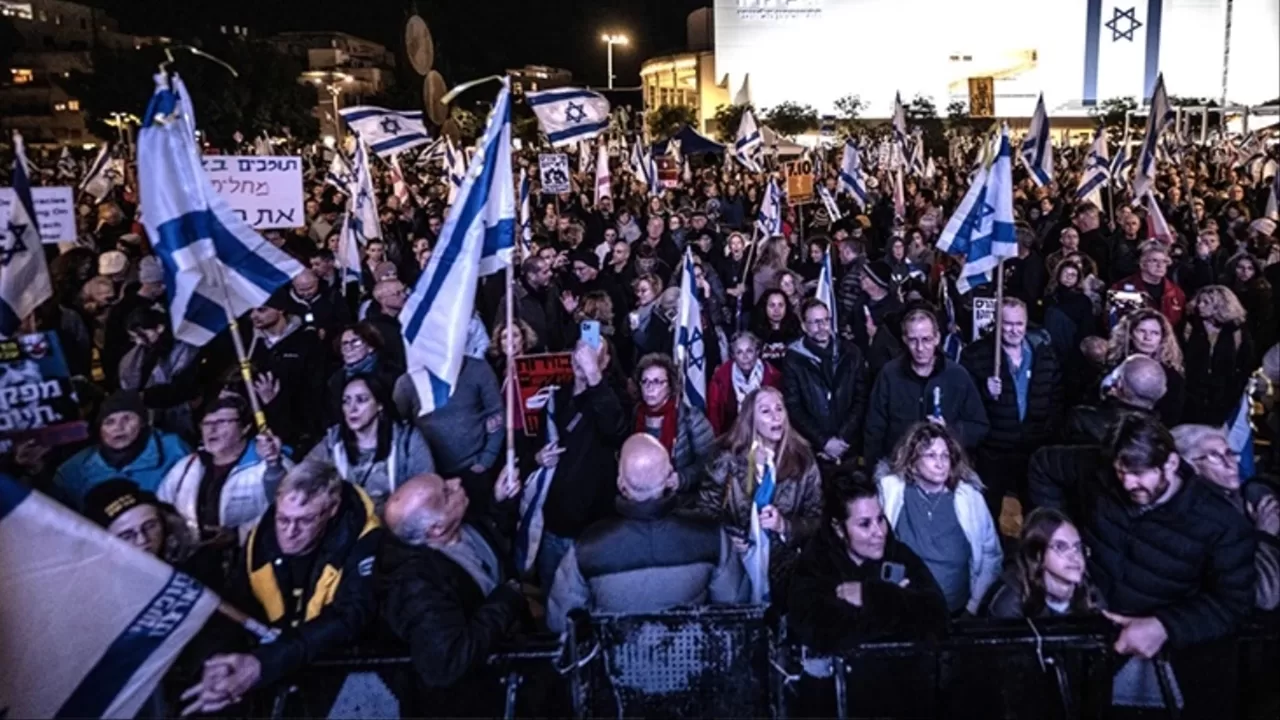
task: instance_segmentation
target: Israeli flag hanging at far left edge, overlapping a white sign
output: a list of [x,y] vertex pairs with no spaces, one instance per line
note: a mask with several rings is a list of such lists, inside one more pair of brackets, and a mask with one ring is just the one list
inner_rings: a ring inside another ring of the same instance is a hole
[[[13,337],[22,320],[54,295],[45,247],[31,197],[27,147],[13,133],[13,193],[8,213],[0,210],[0,337]],[[8,217],[5,217],[8,215]]]

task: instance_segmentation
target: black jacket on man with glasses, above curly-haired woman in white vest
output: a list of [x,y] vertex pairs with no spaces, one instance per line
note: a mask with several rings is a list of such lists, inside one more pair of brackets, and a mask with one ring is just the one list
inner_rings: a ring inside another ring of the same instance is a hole
[[987,410],[969,372],[945,357],[933,363],[933,373],[922,378],[911,369],[911,357],[890,360],[872,386],[867,407],[867,466],[874,468],[906,429],[933,414],[934,388],[941,391],[942,419],[965,450],[987,437]]

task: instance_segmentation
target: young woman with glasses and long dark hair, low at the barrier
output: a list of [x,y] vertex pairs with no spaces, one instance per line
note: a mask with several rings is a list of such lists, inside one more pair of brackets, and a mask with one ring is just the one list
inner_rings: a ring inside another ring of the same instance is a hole
[[1051,507],[1034,510],[1023,523],[1015,566],[991,596],[991,616],[1046,618],[1097,610],[1101,597],[1088,582],[1088,557],[1089,548],[1066,515]]

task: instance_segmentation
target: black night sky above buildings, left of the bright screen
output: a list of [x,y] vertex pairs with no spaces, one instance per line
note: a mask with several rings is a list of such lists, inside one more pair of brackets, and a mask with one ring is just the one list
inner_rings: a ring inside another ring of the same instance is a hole
[[289,29],[342,31],[388,45],[403,58],[404,18],[416,5],[435,40],[435,67],[449,85],[524,64],[567,68],[576,83],[604,85],[604,31],[620,87],[639,85],[640,63],[684,50],[685,18],[708,0],[81,0],[108,10],[120,29],[188,36],[223,23],[257,36]]

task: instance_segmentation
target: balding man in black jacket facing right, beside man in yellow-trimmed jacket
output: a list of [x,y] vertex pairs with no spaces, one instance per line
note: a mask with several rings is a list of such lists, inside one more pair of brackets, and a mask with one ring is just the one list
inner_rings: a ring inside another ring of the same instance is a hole
[[[494,500],[500,506],[518,492],[518,483],[503,479]],[[507,534],[494,518],[468,507],[462,483],[435,474],[410,479],[387,501],[390,537],[379,551],[376,591],[381,616],[408,644],[422,688],[424,706],[410,715],[475,712],[472,703],[486,696],[474,670],[527,618],[507,561]]]

